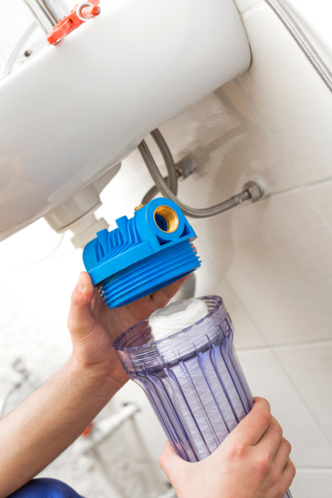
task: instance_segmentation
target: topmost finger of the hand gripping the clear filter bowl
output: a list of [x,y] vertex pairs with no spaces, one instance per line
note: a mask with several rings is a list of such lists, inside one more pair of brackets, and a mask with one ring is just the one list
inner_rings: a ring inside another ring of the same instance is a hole
[[270,423],[271,407],[269,403],[266,399],[255,398],[252,410],[228,436],[228,444],[234,444],[234,440],[237,440],[242,446],[255,446],[263,437]]

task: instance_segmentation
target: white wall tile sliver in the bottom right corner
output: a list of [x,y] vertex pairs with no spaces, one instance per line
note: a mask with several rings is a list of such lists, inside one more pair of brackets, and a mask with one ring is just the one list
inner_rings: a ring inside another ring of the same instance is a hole
[[293,498],[331,498],[332,470],[297,470],[291,492]]

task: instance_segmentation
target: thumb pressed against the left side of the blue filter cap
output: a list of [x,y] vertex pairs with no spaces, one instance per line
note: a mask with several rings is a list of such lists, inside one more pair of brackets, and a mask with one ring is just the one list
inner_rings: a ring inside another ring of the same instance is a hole
[[85,337],[91,332],[94,324],[91,313],[94,293],[95,289],[90,275],[82,271],[77,286],[71,294],[68,327],[72,336]]

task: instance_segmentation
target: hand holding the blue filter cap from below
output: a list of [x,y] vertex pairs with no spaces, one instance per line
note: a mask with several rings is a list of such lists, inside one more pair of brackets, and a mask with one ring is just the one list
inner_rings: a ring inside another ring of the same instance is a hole
[[166,306],[186,278],[122,308],[109,309],[95,291],[89,274],[83,271],[72,293],[69,310],[73,360],[90,373],[107,376],[113,388],[120,389],[128,378],[117,359],[113,342],[120,333]]

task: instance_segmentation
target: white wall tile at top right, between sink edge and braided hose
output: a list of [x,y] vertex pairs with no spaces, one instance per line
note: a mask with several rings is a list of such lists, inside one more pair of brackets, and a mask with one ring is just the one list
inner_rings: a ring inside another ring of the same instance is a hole
[[[326,2],[320,7],[323,22],[330,7]],[[315,10],[319,10],[316,4]],[[248,98],[278,144],[280,154],[304,183],[332,177],[330,93],[266,4],[244,13],[243,21],[253,52],[252,66],[240,77]],[[319,37],[317,22],[309,32]],[[330,29],[326,36],[327,62],[331,63]]]

